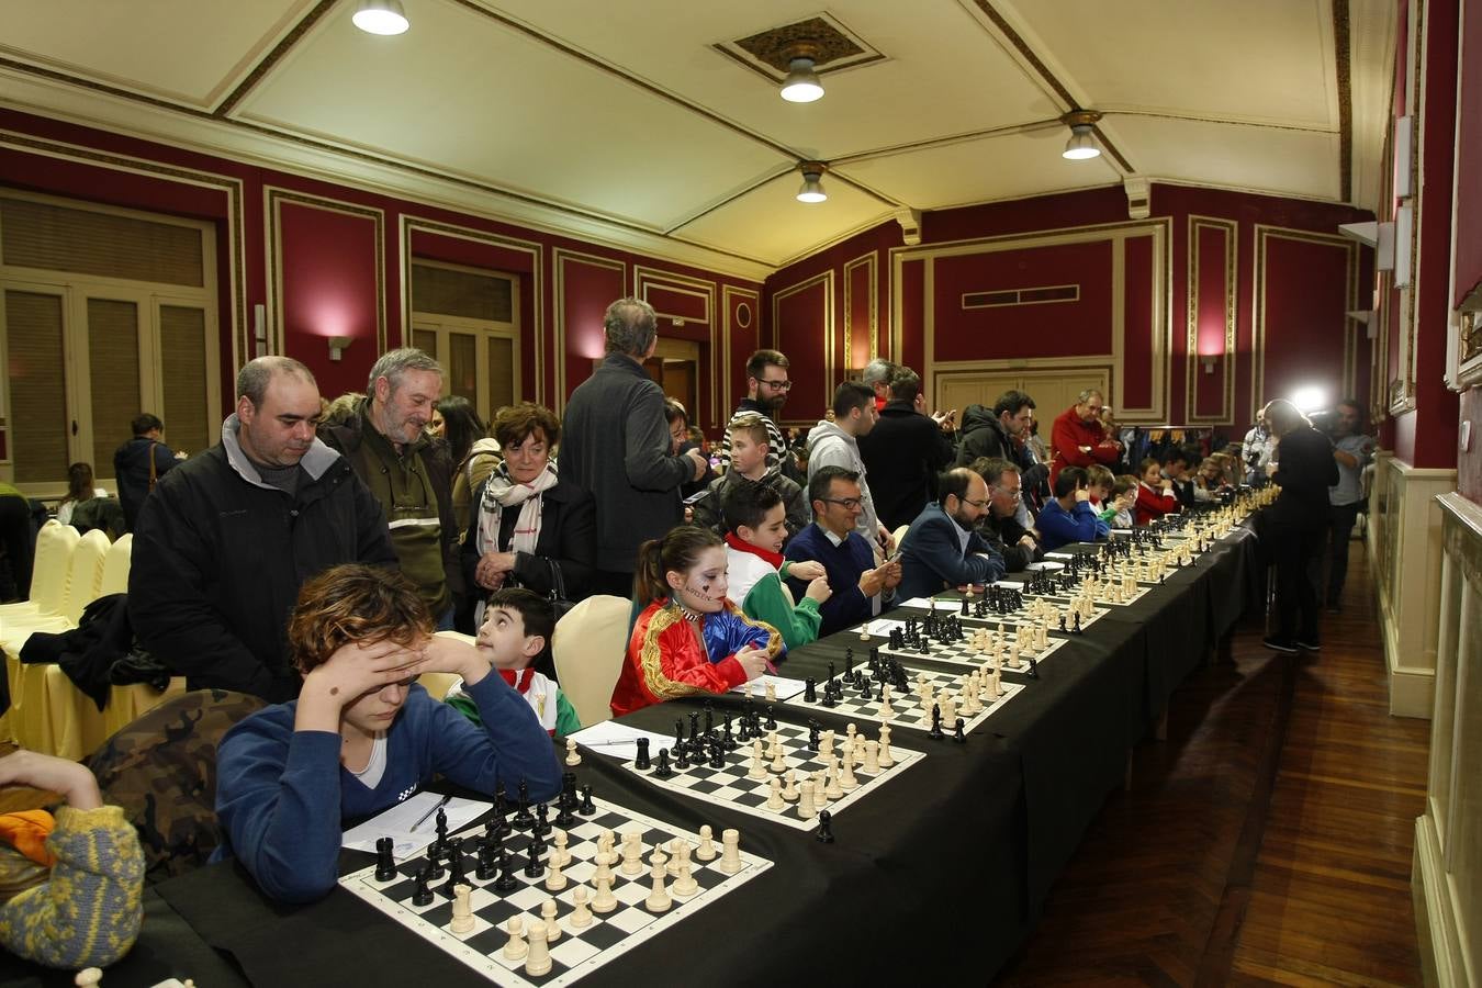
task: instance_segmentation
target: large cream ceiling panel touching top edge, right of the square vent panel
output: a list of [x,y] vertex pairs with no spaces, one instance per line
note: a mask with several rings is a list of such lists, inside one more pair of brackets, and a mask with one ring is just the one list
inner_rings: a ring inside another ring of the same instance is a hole
[[1097,110],[1337,129],[1332,9],[1320,0],[994,0]]

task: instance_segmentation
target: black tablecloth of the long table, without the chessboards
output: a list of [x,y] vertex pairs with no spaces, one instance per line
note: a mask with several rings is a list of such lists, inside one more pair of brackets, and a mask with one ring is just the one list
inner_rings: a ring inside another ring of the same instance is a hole
[[[1037,680],[1005,674],[1027,689],[968,744],[897,732],[897,745],[928,757],[839,815],[833,844],[671,794],[588,752],[578,773],[597,795],[689,831],[735,827],[745,850],[775,865],[581,984],[873,982],[883,966],[988,981],[1033,929],[1107,792],[1123,784],[1128,752],[1245,610],[1258,570],[1254,548],[1252,532],[1236,529],[1196,566],[1073,635],[1039,664]],[[833,635],[797,649],[782,671],[821,680],[830,661],[842,670],[849,647],[860,647],[855,634]],[[711,702],[723,715],[744,701]],[[622,723],[671,733],[674,720],[700,705],[673,701]],[[815,717],[845,726],[827,711]],[[342,855],[347,872],[368,862]],[[163,918],[147,923],[141,947],[108,972],[110,988],[154,984],[160,958],[172,955],[181,958],[176,976],[205,984],[188,966],[202,945],[259,985],[482,982],[339,889],[313,905],[282,907],[227,862],[151,892]],[[210,984],[230,982],[212,972]]]

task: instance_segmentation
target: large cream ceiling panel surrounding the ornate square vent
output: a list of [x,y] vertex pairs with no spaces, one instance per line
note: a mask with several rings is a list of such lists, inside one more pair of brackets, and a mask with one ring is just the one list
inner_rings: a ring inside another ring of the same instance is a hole
[[[713,47],[818,13],[796,0],[510,0],[499,9],[808,157],[839,157],[1061,113],[954,3],[828,4],[834,19],[885,58],[837,73],[825,65],[825,95],[812,104],[784,101],[775,84]],[[642,31],[633,30],[637,21]]]

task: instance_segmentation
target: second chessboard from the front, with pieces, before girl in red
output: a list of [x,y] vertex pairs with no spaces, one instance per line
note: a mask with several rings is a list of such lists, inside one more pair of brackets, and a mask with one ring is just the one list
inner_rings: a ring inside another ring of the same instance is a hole
[[[867,739],[849,724],[836,736],[818,721],[800,726],[777,720],[775,705],[768,705],[765,718],[750,699],[745,707],[740,732],[732,732],[729,715],[717,729],[707,705],[704,730],[695,730],[692,714],[689,738],[677,736],[655,760],[639,741],[639,757],[622,767],[683,795],[812,830],[820,810],[839,815],[926,757],[895,748],[888,730]],[[848,764],[845,752],[852,752]]]

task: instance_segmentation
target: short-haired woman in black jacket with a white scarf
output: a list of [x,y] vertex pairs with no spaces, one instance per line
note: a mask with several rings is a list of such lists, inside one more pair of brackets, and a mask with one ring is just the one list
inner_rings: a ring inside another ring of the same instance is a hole
[[596,504],[556,474],[550,450],[560,440],[560,421],[525,401],[495,418],[494,437],[504,462],[474,492],[479,510],[462,542],[464,575],[485,591],[525,587],[545,595],[554,587],[554,563],[566,600],[581,600],[596,561]]

